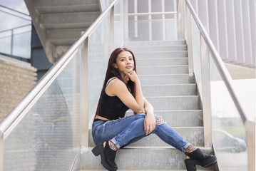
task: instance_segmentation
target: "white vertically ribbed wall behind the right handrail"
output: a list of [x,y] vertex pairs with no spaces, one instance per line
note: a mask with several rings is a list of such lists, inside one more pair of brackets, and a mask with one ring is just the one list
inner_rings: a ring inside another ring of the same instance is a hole
[[255,68],[255,0],[191,0],[223,61]]

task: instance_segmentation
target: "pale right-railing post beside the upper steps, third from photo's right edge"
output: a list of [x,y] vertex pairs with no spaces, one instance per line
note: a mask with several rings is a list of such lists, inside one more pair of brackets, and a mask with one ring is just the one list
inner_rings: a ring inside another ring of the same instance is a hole
[[186,17],[186,41],[188,44],[188,73],[193,75],[193,42],[192,42],[192,25],[191,25],[191,14],[188,6],[185,5],[185,17]]

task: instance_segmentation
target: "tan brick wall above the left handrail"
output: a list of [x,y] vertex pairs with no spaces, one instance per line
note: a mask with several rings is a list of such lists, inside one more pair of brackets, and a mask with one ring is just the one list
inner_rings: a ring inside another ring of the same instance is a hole
[[0,122],[35,83],[30,63],[0,55]]

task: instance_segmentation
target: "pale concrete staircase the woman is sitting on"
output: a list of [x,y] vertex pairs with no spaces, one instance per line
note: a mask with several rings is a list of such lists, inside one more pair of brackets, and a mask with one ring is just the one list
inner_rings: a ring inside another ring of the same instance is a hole
[[[188,74],[185,41],[133,41],[126,47],[135,53],[143,95],[155,114],[188,142],[212,153],[211,148],[204,147],[203,110],[195,78]],[[82,150],[81,170],[104,170],[100,157],[91,152],[94,146],[90,134],[89,148]],[[185,170],[184,159],[182,152],[150,135],[118,150],[116,162],[120,170]]]

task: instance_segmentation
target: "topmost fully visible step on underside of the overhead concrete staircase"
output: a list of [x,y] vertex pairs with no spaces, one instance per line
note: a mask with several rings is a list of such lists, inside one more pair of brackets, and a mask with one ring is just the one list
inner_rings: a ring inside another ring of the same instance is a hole
[[74,4],[64,6],[35,6],[35,9],[40,14],[55,14],[55,13],[76,13],[76,12],[96,12],[101,11],[99,4]]

